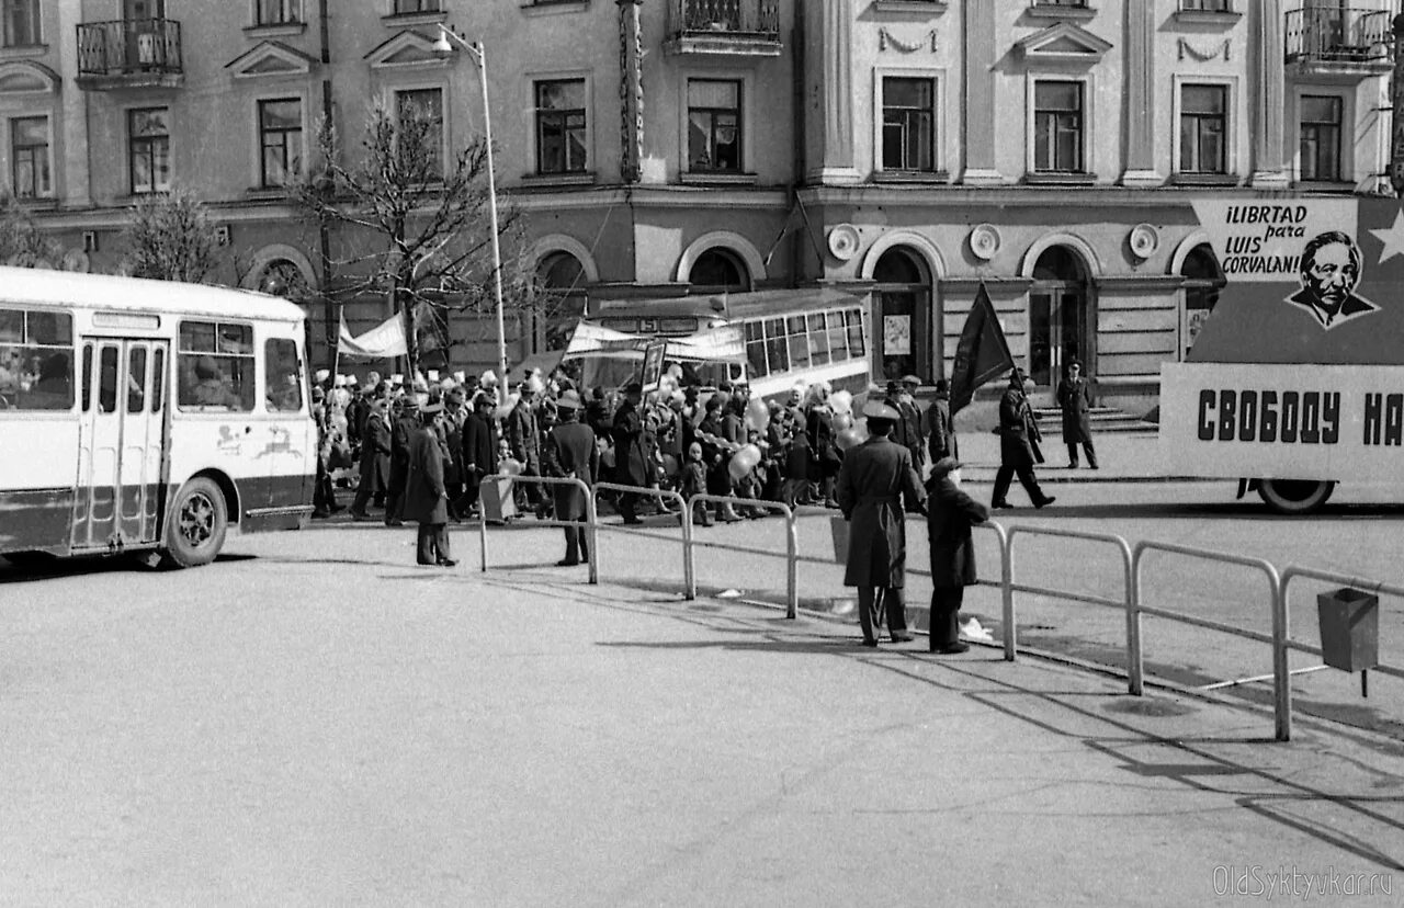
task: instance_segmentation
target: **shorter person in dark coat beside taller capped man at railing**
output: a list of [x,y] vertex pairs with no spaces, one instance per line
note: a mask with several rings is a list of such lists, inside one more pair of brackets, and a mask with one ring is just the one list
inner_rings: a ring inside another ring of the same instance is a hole
[[983,504],[960,491],[960,462],[936,460],[927,480],[927,540],[931,543],[932,653],[965,653],[960,643],[960,603],[965,588],[976,582],[974,543],[970,526],[990,519]]

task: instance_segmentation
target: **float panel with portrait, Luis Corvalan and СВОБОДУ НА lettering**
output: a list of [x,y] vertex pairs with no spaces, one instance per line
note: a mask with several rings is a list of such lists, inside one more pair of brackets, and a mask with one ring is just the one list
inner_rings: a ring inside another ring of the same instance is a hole
[[1404,211],[1396,199],[1196,202],[1227,286],[1161,372],[1186,474],[1404,479]]

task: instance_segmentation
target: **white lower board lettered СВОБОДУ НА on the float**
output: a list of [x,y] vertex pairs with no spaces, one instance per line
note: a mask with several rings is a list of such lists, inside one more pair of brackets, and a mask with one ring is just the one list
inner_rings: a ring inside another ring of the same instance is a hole
[[1167,363],[1160,441],[1175,473],[1404,481],[1404,366]]

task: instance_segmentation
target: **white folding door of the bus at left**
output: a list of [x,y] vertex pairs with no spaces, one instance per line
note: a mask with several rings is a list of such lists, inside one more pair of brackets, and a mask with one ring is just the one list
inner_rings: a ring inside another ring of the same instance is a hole
[[84,341],[83,362],[90,372],[84,380],[74,549],[114,549],[160,538],[167,358],[163,340]]

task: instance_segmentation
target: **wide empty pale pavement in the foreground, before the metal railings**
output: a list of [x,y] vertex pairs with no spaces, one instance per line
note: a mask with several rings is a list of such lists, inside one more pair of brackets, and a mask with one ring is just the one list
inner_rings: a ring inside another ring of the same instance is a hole
[[1314,901],[1397,904],[1404,886],[1397,742],[1302,720],[1279,745],[1259,709],[640,592],[625,553],[665,543],[611,539],[607,578],[630,585],[587,588],[541,568],[532,533],[494,552],[538,567],[486,577],[417,568],[411,542],[336,528],[184,573],[0,568],[0,901],[1184,905],[1286,872],[1321,874],[1289,880]]

